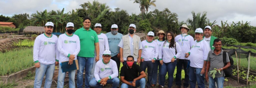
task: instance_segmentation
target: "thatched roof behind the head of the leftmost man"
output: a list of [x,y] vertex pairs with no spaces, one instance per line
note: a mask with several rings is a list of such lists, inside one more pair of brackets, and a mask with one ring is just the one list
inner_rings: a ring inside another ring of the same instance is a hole
[[37,27],[37,26],[27,26],[24,30],[24,33],[36,33],[36,34],[43,34],[45,32],[44,27]]

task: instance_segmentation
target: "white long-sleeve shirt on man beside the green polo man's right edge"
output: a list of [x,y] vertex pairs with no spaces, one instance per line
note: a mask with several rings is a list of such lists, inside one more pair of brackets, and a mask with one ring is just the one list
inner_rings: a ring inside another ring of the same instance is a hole
[[[99,35],[98,35],[98,39],[99,39],[99,46],[100,46],[100,57],[102,57],[102,55],[103,55],[103,52],[105,51],[105,50],[109,50],[109,42],[108,42],[108,38],[107,38],[107,36],[104,34],[104,33],[100,33]],[[96,50],[94,50],[94,57],[96,57],[97,55],[96,55]]]

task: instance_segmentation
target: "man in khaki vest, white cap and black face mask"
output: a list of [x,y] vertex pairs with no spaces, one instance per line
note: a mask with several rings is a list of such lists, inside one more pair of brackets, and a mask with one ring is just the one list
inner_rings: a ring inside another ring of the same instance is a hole
[[[131,24],[128,28],[129,34],[122,36],[122,39],[118,46],[120,47],[120,62],[123,62],[123,66],[127,64],[126,59],[128,56],[134,57],[134,63],[138,64],[141,60],[141,41],[140,37],[135,35],[136,25]],[[137,62],[136,62],[137,61]]]

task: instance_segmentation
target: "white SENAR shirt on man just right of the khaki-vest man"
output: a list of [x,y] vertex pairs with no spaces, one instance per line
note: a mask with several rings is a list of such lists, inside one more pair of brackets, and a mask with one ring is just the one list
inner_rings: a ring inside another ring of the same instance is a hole
[[141,44],[141,58],[143,58],[144,61],[151,61],[152,59],[156,60],[159,52],[157,43],[155,41],[148,42],[147,40],[144,40],[141,42]]

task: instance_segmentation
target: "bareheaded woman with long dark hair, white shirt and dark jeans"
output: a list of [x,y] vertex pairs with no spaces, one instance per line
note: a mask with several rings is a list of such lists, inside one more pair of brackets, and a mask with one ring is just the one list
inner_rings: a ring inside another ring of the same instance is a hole
[[[163,88],[165,82],[165,75],[168,72],[168,87],[172,87],[173,82],[173,73],[177,64],[176,58],[179,58],[181,55],[180,44],[174,41],[174,34],[172,32],[167,32],[166,39],[159,50],[159,60],[161,66],[161,78],[160,85]],[[177,52],[177,53],[176,53]]]

